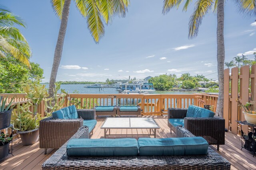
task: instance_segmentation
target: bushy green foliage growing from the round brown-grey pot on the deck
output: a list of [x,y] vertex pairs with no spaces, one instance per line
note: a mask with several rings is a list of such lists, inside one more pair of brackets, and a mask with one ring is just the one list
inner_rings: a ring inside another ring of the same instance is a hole
[[17,104],[17,108],[12,111],[12,123],[14,129],[18,131],[30,131],[39,127],[39,121],[42,119],[40,114],[34,115],[30,111],[32,103]]

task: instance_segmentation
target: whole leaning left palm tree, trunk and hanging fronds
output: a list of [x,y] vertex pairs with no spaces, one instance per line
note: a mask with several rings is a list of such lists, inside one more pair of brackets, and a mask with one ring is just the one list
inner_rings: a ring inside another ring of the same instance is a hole
[[[74,0],[74,2],[79,12],[86,18],[88,29],[96,43],[104,36],[105,30],[103,22],[105,21],[105,23],[108,24],[116,15],[124,17],[130,3],[129,0]],[[51,4],[61,22],[50,76],[50,97],[53,96],[54,83],[56,82],[58,67],[62,56],[71,0],[51,0]],[[104,21],[102,21],[102,19]]]

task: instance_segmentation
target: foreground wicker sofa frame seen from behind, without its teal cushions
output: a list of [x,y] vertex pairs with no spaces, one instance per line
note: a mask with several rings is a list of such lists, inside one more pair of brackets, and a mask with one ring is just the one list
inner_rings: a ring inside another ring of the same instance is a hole
[[[178,137],[193,137],[183,127],[178,127]],[[72,137],[88,138],[88,128],[81,127]],[[205,155],[191,156],[67,156],[66,142],[42,164],[42,170],[230,170],[230,163],[210,147]]]

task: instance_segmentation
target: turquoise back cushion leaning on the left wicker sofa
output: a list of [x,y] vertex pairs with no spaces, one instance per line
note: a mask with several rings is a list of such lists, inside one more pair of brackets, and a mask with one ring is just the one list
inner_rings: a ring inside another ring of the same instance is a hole
[[52,117],[54,119],[77,119],[78,114],[76,111],[76,106],[72,105],[72,106],[64,107],[60,110],[54,111],[52,113]]

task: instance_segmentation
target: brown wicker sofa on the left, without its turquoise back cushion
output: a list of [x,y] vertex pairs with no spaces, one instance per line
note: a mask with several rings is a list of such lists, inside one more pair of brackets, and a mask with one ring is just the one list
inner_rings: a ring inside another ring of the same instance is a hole
[[91,125],[90,120],[96,119],[95,110],[78,109],[77,113],[78,119],[54,119],[53,117],[47,117],[40,121],[39,147],[44,148],[44,154],[46,154],[48,148],[60,148],[83,125],[90,125],[88,133],[93,133],[94,125]]

